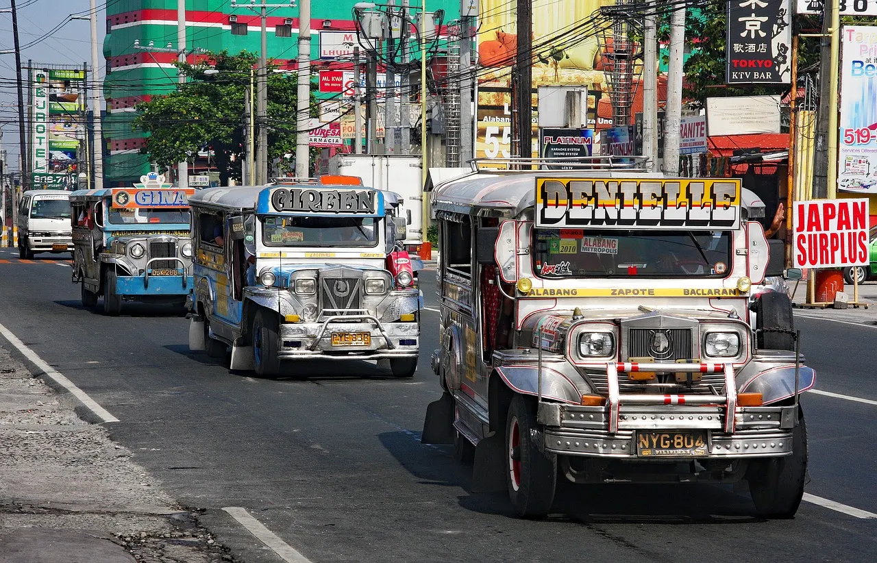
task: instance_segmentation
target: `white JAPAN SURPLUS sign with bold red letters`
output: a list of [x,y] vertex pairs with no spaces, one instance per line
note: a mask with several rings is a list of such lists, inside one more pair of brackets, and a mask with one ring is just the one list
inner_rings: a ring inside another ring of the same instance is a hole
[[793,211],[795,267],[867,266],[868,200],[797,202]]

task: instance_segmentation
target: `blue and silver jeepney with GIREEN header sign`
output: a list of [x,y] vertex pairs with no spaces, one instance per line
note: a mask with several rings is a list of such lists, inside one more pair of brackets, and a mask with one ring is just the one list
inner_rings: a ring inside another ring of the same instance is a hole
[[189,203],[191,350],[230,347],[232,369],[266,376],[317,359],[414,374],[422,297],[395,193],[296,181],[203,189]]

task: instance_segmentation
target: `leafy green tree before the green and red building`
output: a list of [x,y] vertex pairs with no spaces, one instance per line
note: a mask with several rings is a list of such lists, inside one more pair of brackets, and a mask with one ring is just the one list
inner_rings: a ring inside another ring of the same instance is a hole
[[[175,67],[190,82],[172,94],[137,105],[139,116],[133,127],[147,133],[146,146],[140,152],[168,168],[210,148],[216,155],[220,184],[227,185],[230,179],[240,181],[239,162],[246,153],[246,89],[250,70],[258,60],[254,53],[230,55],[223,51],[196,65],[176,62]],[[210,68],[218,74],[205,75]],[[288,171],[290,163],[283,157],[295,153],[297,76],[272,72],[275,68],[268,66],[268,160],[280,158],[282,169]],[[312,85],[310,114],[316,117],[313,90]]]

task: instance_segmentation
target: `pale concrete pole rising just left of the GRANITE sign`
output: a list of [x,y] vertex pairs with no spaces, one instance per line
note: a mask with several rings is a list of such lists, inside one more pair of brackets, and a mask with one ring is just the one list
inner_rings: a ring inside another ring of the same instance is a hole
[[[664,172],[679,175],[679,133],[682,118],[682,48],[686,5],[670,16],[670,61],[667,68],[667,121],[664,129]],[[645,114],[643,115],[645,119]],[[645,121],[644,121],[645,125]],[[657,139],[656,139],[657,140]]]

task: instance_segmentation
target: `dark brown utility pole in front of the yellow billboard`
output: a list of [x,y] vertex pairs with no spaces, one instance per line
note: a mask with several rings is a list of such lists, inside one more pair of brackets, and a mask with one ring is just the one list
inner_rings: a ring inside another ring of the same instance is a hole
[[[520,158],[531,159],[533,156],[533,6],[532,0],[517,0],[517,56],[515,67],[517,68],[517,99],[512,103],[517,105],[517,155]],[[530,168],[530,167],[526,167]]]

